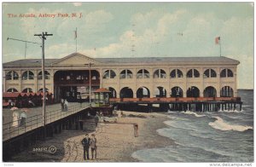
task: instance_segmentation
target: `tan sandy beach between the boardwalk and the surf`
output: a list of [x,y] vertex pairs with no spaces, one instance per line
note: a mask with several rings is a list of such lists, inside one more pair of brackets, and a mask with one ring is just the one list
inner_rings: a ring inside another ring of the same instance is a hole
[[[174,142],[158,135],[156,130],[165,127],[167,120],[163,113],[123,112],[115,124],[99,123],[95,134],[97,140],[97,159],[84,160],[81,141],[85,131],[64,130],[61,134],[40,141],[26,151],[13,157],[14,162],[137,162],[131,154],[137,150],[166,147]],[[133,124],[138,124],[138,136],[134,134]],[[49,153],[48,147],[56,147]],[[91,158],[91,155],[90,155]]]

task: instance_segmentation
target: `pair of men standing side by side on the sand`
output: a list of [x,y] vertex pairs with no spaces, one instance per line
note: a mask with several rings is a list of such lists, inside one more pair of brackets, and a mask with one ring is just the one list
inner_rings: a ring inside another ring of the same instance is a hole
[[97,145],[95,134],[91,135],[91,138],[88,134],[85,134],[84,139],[81,141],[84,147],[84,160],[89,160],[89,150],[91,151],[91,159],[97,158]]

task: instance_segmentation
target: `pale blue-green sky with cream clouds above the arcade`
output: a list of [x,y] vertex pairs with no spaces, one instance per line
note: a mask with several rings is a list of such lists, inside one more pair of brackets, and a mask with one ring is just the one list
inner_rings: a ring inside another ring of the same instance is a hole
[[[92,58],[218,57],[215,37],[220,37],[221,55],[241,62],[238,89],[253,89],[253,3],[2,3],[2,7],[3,62],[24,59],[25,50],[26,59],[40,59],[40,45],[7,38],[41,43],[34,34],[42,32],[53,34],[45,41],[46,59],[73,54],[76,46],[77,52]],[[44,14],[49,17],[40,17]]]

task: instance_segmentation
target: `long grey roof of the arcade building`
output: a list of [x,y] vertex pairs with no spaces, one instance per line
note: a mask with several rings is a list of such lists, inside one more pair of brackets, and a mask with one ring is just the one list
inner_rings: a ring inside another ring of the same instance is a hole
[[[75,54],[72,54],[75,55]],[[72,55],[67,55],[70,57]],[[81,54],[79,54],[81,55]],[[84,55],[85,56],[85,55]],[[63,58],[61,58],[63,59]],[[45,66],[55,66],[56,62],[61,59],[45,59]],[[120,64],[235,64],[238,65],[238,60],[233,60],[228,57],[137,57],[137,58],[95,58],[97,62],[103,65],[120,65]],[[25,59],[14,60],[3,63],[3,67],[7,66],[41,66],[41,59]],[[83,64],[83,63],[81,63]]]

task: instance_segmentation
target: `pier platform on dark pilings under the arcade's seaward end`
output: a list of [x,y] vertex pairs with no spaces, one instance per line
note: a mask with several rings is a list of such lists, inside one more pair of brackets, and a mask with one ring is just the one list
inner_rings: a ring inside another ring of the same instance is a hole
[[218,112],[219,110],[241,111],[240,97],[155,97],[155,98],[110,98],[110,104],[117,107],[136,107],[147,105],[148,112],[153,105],[159,105],[160,111],[191,111],[191,112]]

